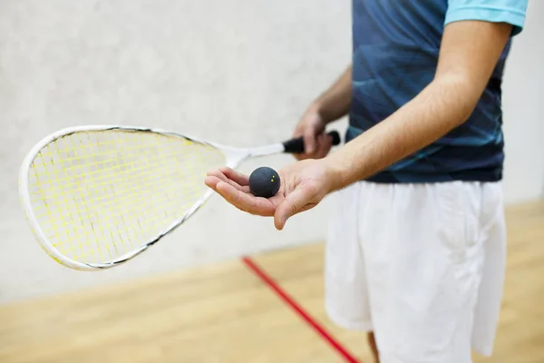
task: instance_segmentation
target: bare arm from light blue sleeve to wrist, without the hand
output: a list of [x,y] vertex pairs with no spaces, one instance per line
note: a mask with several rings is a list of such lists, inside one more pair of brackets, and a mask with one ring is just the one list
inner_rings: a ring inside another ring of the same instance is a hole
[[379,172],[464,123],[488,83],[511,25],[464,21],[444,29],[435,77],[413,100],[325,159],[332,190]]

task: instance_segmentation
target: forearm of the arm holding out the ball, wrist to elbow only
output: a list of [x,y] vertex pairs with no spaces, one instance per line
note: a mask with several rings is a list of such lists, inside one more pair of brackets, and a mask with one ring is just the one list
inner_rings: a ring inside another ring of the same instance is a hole
[[482,89],[437,79],[396,113],[332,153],[333,190],[372,176],[441,138],[470,116]]

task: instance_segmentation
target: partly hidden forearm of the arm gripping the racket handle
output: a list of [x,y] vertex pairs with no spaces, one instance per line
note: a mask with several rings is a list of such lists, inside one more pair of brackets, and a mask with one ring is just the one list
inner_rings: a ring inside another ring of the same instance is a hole
[[322,93],[310,107],[316,109],[326,123],[331,123],[344,117],[349,112],[352,98],[352,66]]

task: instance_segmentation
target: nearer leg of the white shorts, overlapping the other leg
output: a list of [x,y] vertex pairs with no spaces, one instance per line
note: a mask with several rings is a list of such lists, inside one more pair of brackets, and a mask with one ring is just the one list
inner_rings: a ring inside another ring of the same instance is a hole
[[471,363],[479,183],[364,184],[359,239],[382,363]]

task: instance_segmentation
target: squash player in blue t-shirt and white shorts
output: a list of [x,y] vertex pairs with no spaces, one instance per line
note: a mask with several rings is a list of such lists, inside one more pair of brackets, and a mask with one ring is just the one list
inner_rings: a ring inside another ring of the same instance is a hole
[[[500,82],[527,0],[353,0],[353,59],[296,126],[308,149],[269,200],[206,184],[278,230],[330,193],[326,309],[376,361],[491,355],[505,270]],[[349,115],[330,152],[325,125]],[[515,120],[512,120],[515,122]],[[375,343],[375,345],[374,345]]]

